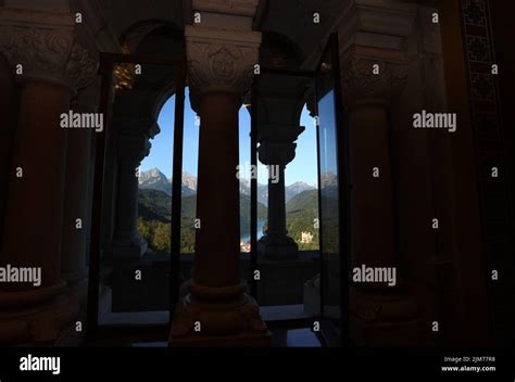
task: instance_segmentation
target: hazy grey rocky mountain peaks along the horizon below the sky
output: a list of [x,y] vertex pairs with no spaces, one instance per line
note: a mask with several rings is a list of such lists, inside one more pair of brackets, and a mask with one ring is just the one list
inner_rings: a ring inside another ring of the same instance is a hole
[[[331,179],[327,179],[327,181],[330,182]],[[139,188],[142,190],[163,191],[171,195],[172,178],[166,178],[159,168],[152,168],[140,174]],[[191,174],[183,173],[181,190],[183,196],[194,195],[197,193],[197,178]],[[287,186],[285,189],[286,202],[288,203],[293,196],[309,190],[315,190],[315,188],[302,181]],[[240,181],[240,192],[242,195],[250,196],[249,180],[242,179]],[[258,202],[264,205],[268,204],[268,184],[258,183]]]

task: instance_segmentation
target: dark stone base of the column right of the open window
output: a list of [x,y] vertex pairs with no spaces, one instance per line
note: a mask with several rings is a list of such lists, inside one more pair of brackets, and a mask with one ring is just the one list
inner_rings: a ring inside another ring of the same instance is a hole
[[430,331],[406,292],[381,286],[351,293],[350,328],[355,345],[373,347],[425,345]]

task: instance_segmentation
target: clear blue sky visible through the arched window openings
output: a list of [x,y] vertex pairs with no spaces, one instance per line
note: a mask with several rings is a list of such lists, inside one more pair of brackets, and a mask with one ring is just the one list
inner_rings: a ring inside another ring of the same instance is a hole
[[[150,155],[141,163],[141,170],[159,168],[167,178],[172,176],[173,163],[173,133],[174,133],[175,97],[171,98],[163,106],[158,123],[161,132],[151,141],[152,149]],[[185,143],[183,169],[197,176],[197,165],[199,155],[199,127],[194,124],[196,113],[191,110],[189,102],[189,91],[186,89],[185,102]],[[297,140],[297,155],[293,162],[286,167],[286,184],[303,181],[315,186],[317,183],[316,163],[316,128],[313,118],[310,117],[304,107],[301,116],[301,125],[305,126],[305,131]],[[241,107],[239,113],[239,139],[240,139],[240,164],[250,165],[250,114]],[[236,169],[235,169],[236,175]],[[261,165],[258,168],[258,181],[267,183],[266,167]]]

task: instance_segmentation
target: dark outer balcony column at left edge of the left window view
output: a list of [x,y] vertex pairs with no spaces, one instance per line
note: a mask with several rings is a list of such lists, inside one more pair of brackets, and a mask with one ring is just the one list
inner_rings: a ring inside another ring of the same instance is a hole
[[120,136],[117,139],[118,182],[116,224],[113,240],[115,260],[139,260],[148,243],[138,232],[137,169],[150,153],[150,142],[143,136]]

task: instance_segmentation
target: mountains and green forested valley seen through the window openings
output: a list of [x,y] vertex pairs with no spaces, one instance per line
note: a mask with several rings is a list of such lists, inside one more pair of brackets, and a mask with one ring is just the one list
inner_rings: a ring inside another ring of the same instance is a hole
[[[258,184],[258,227],[266,230],[266,184]],[[194,219],[197,204],[197,178],[188,173],[181,179],[181,253],[194,252]],[[139,232],[154,252],[169,253],[172,220],[172,179],[158,168],[142,171],[139,178]],[[318,249],[318,191],[304,182],[296,182],[285,190],[287,229],[301,251]],[[311,240],[302,240],[302,232]],[[259,232],[259,238],[264,232]],[[250,241],[250,181],[240,181],[240,234],[242,247]]]

